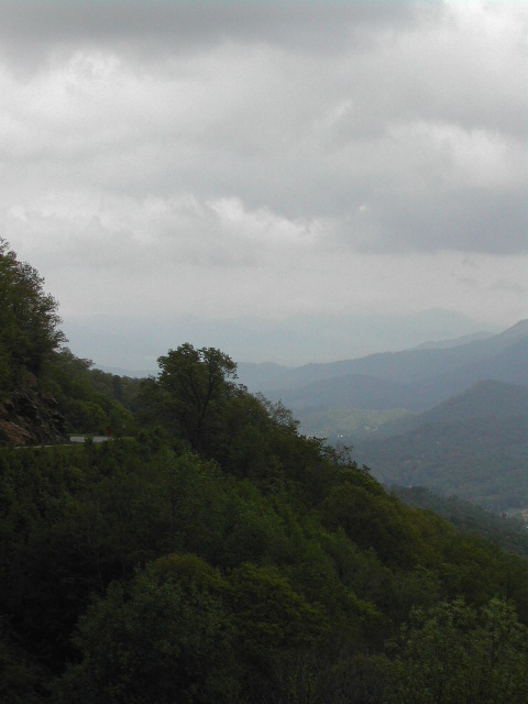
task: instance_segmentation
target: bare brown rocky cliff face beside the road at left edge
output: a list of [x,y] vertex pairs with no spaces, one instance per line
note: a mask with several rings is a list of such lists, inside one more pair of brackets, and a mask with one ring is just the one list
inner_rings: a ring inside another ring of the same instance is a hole
[[66,419],[52,396],[15,392],[0,399],[0,446],[54,444],[66,439]]

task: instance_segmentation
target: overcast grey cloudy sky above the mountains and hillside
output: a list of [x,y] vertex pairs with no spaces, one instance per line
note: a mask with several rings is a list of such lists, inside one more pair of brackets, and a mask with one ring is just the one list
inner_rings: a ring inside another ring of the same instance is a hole
[[0,0],[0,233],[100,364],[504,329],[527,36],[522,0]]

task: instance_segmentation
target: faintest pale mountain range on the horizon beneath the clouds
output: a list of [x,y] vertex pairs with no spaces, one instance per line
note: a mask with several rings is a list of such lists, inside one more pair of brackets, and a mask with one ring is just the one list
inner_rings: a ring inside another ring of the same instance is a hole
[[380,350],[408,350],[424,340],[453,339],[480,330],[473,320],[447,310],[399,316],[300,314],[280,319],[211,319],[164,316],[162,311],[152,318],[133,311],[128,316],[68,316],[62,329],[72,350],[98,364],[128,370],[129,374],[130,370],[156,374],[157,358],[184,342],[195,348],[218,348],[239,362],[276,362],[292,367],[315,360],[358,359]]

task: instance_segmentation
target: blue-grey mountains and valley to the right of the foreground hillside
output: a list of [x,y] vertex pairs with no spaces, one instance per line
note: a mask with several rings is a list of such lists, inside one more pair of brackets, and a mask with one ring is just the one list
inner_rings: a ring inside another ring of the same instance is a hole
[[528,320],[499,334],[285,369],[239,367],[300,429],[352,444],[387,484],[497,512],[528,507]]

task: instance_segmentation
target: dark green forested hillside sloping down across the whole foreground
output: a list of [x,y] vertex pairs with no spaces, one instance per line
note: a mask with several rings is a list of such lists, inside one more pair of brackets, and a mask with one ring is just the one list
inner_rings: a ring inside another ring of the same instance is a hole
[[2,398],[31,373],[66,425],[113,425],[1,439],[1,702],[528,700],[524,558],[406,507],[217,349],[182,344],[140,383],[51,322],[31,372],[6,346]]

